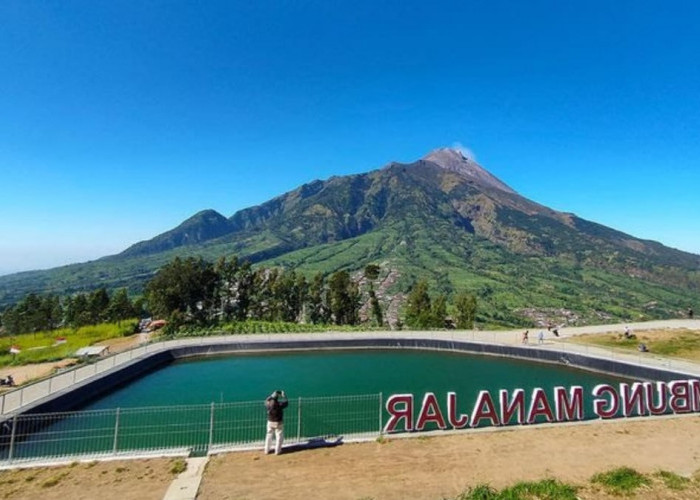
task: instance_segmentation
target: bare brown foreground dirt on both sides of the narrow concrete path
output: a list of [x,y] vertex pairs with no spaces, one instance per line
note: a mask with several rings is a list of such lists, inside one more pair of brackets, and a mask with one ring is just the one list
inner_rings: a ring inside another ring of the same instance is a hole
[[[91,462],[0,471],[0,498],[20,500],[162,499],[176,459]],[[590,478],[627,466],[695,477],[682,490],[655,482],[637,499],[700,498],[700,417],[517,427],[389,439],[283,453],[211,457],[198,500],[455,498],[470,486],[502,488],[556,478],[584,485],[581,499],[616,498]]]

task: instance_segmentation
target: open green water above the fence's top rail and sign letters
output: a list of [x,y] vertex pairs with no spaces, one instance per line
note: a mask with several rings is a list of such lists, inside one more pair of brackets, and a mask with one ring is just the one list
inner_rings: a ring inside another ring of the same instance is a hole
[[[436,351],[308,351],[176,362],[84,409],[256,401],[274,389],[290,398],[382,392],[456,392],[465,401],[489,390],[581,385],[586,392],[614,377],[508,358]],[[548,391],[549,392],[549,391]]]

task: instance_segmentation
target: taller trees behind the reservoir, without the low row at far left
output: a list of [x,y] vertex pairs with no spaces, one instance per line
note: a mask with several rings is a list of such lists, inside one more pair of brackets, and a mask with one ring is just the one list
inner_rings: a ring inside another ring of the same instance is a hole
[[[380,268],[364,269],[368,317],[373,326],[386,320],[373,281]],[[294,270],[255,268],[237,257],[216,263],[201,258],[175,258],[161,268],[146,285],[146,302],[157,317],[169,320],[170,329],[183,325],[210,326],[231,321],[281,321],[292,323],[357,325],[365,300],[358,283],[344,270],[329,276],[316,274],[310,280]],[[412,328],[472,328],[476,297],[461,292],[452,304],[448,321],[445,295],[431,298],[427,281],[416,283],[405,307],[406,325]]]

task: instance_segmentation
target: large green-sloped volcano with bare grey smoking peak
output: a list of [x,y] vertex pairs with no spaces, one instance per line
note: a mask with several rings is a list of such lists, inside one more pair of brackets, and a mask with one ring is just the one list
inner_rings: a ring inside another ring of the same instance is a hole
[[231,254],[305,273],[376,263],[387,307],[425,277],[435,292],[476,292],[489,324],[670,317],[700,290],[700,256],[528,200],[444,148],[316,180],[228,219],[205,210],[118,255],[0,277],[0,304],[29,291],[137,293],[174,256]]

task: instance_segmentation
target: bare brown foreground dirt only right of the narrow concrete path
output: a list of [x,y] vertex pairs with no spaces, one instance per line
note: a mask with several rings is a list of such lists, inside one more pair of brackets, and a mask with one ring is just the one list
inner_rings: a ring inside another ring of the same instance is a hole
[[[483,483],[501,488],[553,477],[585,484],[621,466],[693,475],[700,468],[700,417],[520,427],[280,456],[229,453],[212,457],[197,498],[440,500]],[[698,498],[700,490],[661,495],[646,491],[640,498]],[[579,496],[605,497],[590,487]]]

